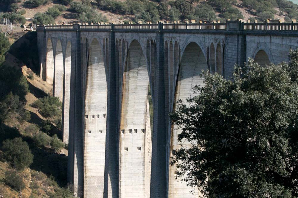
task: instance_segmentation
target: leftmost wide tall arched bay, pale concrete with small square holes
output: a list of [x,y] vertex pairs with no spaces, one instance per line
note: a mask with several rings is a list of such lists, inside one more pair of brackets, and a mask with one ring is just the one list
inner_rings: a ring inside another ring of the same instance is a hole
[[93,39],[86,69],[84,197],[103,196],[107,96],[103,50]]

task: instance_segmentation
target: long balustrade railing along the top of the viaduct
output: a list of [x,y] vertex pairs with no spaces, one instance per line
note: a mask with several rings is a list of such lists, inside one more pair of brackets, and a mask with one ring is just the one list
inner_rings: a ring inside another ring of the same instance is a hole
[[298,31],[298,23],[295,20],[292,20],[291,23],[282,23],[278,22],[270,22],[267,20],[264,23],[245,23],[242,20],[227,20],[226,23],[147,23],[147,24],[107,24],[107,23],[97,23],[97,24],[62,24],[62,25],[44,25],[38,26],[37,30],[42,31],[44,29],[101,29],[107,31],[117,31],[117,30],[130,30],[130,31],[138,31],[138,30],[156,30],[156,31],[244,31],[244,32],[252,32],[252,31]]

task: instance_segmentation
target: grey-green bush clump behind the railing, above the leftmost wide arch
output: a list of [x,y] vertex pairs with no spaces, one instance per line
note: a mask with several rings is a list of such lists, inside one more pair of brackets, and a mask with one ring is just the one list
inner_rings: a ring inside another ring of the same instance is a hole
[[81,23],[97,23],[107,22],[107,18],[102,14],[98,13],[96,9],[93,9],[88,4],[82,2],[73,1],[70,4],[70,9],[78,13],[78,19]]

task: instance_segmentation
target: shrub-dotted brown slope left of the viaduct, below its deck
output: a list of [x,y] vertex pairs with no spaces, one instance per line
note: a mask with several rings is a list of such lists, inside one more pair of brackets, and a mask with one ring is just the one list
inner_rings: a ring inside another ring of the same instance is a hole
[[72,198],[62,103],[33,72],[36,33],[5,37],[0,29],[0,46],[0,197]]

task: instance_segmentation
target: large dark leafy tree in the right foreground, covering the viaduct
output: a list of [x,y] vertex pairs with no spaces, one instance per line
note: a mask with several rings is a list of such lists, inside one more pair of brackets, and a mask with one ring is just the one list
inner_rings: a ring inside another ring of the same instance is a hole
[[[289,64],[235,66],[232,80],[204,72],[198,96],[170,115],[182,132],[179,179],[221,197],[298,196],[298,52]],[[186,148],[182,142],[188,141]]]

